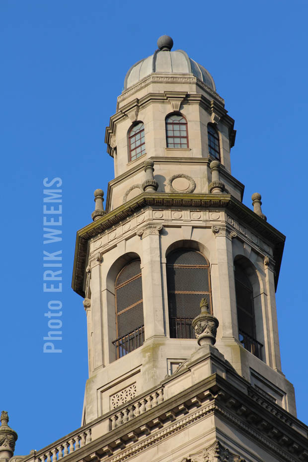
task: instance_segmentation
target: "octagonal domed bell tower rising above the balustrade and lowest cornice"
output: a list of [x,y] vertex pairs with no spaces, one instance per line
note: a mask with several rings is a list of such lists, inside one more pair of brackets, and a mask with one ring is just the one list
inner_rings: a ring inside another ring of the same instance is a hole
[[[152,390],[162,381],[172,396],[212,374],[296,416],[275,303],[285,236],[263,215],[260,194],[253,210],[242,203],[244,185],[231,174],[234,121],[213,77],[173,51],[170,37],[157,45],[125,77],[105,135],[115,177],[105,209],[96,189],[93,221],[77,232],[73,289],[84,298],[89,359],[83,424],[146,392],[144,405],[159,404]],[[201,375],[194,366],[189,385],[184,372],[201,351],[208,366]]]

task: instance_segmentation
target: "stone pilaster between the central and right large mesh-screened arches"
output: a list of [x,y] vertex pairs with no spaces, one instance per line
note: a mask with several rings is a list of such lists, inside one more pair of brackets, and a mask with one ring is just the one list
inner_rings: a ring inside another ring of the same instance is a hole
[[235,284],[233,270],[232,238],[236,236],[225,224],[212,227],[216,235],[218,263],[220,313],[214,313],[220,319],[222,337],[238,339]]

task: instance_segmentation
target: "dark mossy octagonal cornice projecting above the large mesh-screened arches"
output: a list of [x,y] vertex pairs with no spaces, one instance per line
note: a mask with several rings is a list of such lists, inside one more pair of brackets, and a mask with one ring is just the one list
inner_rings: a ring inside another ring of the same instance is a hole
[[271,242],[274,247],[273,257],[276,261],[275,283],[277,286],[285,236],[230,194],[145,192],[77,231],[72,279],[72,288],[77,294],[84,297],[83,277],[88,240],[148,206],[222,208],[230,210],[244,225],[253,228],[261,237]]

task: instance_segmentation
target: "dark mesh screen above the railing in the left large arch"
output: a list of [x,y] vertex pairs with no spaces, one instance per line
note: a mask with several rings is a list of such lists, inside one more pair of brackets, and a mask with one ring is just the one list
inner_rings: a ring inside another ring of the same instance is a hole
[[128,263],[119,273],[116,284],[117,336],[123,337],[144,325],[140,260]]

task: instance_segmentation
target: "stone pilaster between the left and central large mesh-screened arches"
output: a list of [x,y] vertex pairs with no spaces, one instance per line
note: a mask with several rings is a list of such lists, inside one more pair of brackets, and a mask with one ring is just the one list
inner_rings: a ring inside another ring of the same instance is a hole
[[146,340],[165,335],[160,271],[159,232],[162,225],[148,225],[137,232],[142,238],[142,290]]

